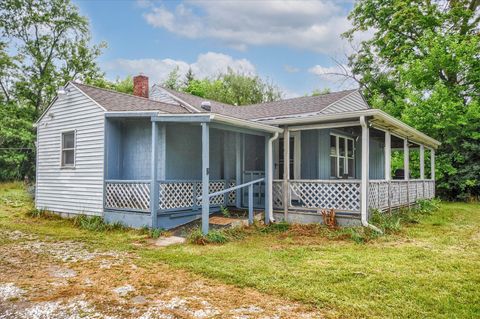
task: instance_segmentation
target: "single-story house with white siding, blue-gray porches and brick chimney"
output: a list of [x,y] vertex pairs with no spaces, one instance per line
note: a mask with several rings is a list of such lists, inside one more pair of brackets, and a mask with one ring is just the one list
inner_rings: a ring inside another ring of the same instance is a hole
[[262,208],[266,222],[320,222],[333,208],[368,226],[372,208],[435,195],[440,143],[358,90],[233,106],[143,75],[134,95],[70,82],[36,128],[36,207],[132,227],[202,218],[206,232],[221,206]]

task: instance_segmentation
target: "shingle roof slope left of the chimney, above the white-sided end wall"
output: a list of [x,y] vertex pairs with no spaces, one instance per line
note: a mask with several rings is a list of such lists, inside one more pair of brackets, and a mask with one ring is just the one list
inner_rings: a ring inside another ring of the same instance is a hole
[[179,105],[157,102],[131,94],[101,89],[76,82],[72,82],[72,84],[95,102],[103,106],[107,111],[160,111],[165,113],[189,113],[187,109]]

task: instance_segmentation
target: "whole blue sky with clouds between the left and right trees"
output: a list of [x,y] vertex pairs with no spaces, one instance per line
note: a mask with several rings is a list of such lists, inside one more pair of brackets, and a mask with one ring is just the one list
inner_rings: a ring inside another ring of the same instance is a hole
[[93,41],[107,77],[144,73],[161,82],[176,66],[198,77],[227,67],[276,83],[286,97],[333,91],[352,82],[325,75],[345,62],[349,1],[85,1]]

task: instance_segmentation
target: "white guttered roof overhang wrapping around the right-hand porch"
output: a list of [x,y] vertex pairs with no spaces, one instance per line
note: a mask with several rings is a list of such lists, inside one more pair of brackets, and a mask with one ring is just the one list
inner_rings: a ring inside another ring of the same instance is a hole
[[285,117],[265,120],[262,121],[262,123],[270,125],[300,126],[315,123],[356,121],[361,116],[368,117],[370,124],[377,129],[390,131],[397,136],[407,138],[413,142],[423,144],[430,148],[436,149],[441,144],[439,141],[431,138],[430,136],[420,132],[419,130],[403,123],[402,121],[379,109],[368,109],[336,114],[318,114],[313,116]]

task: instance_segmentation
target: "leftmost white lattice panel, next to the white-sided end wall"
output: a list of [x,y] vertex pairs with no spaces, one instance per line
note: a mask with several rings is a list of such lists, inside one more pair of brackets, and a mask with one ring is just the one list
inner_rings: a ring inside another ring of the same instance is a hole
[[150,210],[150,181],[106,181],[105,208]]

